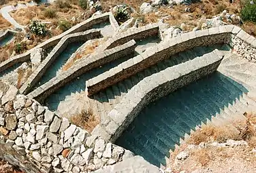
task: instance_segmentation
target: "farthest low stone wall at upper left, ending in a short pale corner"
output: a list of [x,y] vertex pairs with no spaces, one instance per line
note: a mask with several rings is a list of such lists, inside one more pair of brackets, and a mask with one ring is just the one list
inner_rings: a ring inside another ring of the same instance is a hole
[[114,29],[118,28],[118,23],[114,19],[114,16],[112,13],[104,13],[97,16],[93,16],[87,20],[84,20],[84,22],[81,22],[79,24],[76,24],[76,26],[73,26],[69,30],[65,31],[61,35],[57,35],[56,37],[52,37],[48,39],[47,41],[44,41],[44,43],[41,43],[35,47],[33,47],[31,50],[25,52],[24,54],[20,54],[18,56],[14,56],[8,60],[5,60],[5,62],[2,62],[0,64],[0,72],[5,71],[7,68],[10,68],[11,66],[14,66],[14,64],[20,63],[20,62],[26,62],[29,61],[30,54],[33,52],[33,50],[37,48],[42,48],[43,50],[46,50],[48,47],[52,47],[53,45],[57,45],[57,43],[61,40],[62,37],[65,35],[86,31],[87,29],[91,28],[94,24],[99,24],[101,22],[106,22],[107,20],[110,21],[110,24]]

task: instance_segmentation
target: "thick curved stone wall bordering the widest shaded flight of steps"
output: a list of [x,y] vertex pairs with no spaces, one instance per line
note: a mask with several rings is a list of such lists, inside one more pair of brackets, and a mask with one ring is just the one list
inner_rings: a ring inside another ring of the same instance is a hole
[[213,73],[222,59],[219,50],[214,50],[146,77],[131,88],[123,100],[110,111],[108,120],[97,125],[92,134],[108,134],[101,137],[114,142],[149,102]]

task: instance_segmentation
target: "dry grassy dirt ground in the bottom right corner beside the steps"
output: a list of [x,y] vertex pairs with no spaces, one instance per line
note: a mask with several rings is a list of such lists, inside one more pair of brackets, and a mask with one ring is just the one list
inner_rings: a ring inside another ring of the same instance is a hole
[[255,115],[231,126],[205,126],[174,152],[167,168],[178,173],[256,172]]

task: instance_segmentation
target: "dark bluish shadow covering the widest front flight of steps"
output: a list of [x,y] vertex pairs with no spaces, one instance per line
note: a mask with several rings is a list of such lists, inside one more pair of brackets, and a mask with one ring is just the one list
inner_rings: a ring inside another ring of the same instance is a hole
[[148,104],[116,145],[142,155],[155,166],[166,165],[165,157],[170,157],[170,149],[180,144],[180,138],[246,92],[236,81],[213,73]]

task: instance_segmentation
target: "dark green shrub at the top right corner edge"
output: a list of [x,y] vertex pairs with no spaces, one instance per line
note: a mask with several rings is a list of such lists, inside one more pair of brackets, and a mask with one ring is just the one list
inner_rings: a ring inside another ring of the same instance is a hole
[[246,4],[241,12],[242,20],[256,22],[256,4]]

